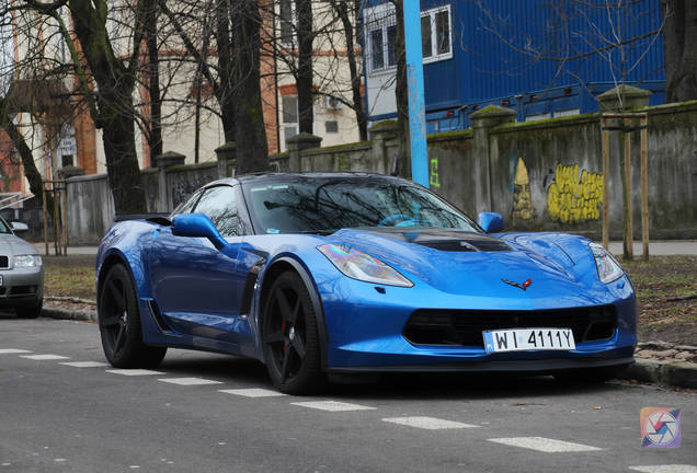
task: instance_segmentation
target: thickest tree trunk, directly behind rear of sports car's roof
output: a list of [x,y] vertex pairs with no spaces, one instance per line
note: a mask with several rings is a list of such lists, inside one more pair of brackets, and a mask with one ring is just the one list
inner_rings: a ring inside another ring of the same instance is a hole
[[261,16],[258,0],[236,1],[235,102],[237,174],[268,170],[266,128],[260,85]]

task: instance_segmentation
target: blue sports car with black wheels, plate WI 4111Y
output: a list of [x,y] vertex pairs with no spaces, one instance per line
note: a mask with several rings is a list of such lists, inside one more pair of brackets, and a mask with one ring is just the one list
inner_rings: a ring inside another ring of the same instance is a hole
[[299,394],[328,374],[523,371],[604,379],[633,361],[636,299],[602,246],[496,233],[409,181],[259,174],[198,189],[169,217],[114,223],[96,261],[108,361],[168,347],[266,365]]

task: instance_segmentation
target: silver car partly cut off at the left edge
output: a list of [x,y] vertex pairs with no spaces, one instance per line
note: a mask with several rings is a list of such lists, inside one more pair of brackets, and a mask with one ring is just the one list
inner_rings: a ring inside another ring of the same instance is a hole
[[42,313],[43,302],[41,255],[0,217],[0,308],[14,308],[18,316],[35,319]]

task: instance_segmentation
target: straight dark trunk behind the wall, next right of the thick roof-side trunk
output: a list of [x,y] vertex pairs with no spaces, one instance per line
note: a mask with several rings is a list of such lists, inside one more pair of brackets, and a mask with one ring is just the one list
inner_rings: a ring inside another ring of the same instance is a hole
[[312,123],[312,0],[296,0],[298,19],[298,128],[300,132],[311,134]]

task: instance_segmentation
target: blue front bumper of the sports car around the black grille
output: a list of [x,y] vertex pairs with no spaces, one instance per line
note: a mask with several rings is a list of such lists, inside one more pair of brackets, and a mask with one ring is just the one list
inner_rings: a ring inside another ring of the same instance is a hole
[[[592,300],[558,293],[535,299],[522,293],[506,300],[449,295],[433,288],[387,287],[382,293],[375,285],[338,279],[331,286],[320,286],[327,326],[327,370],[549,372],[627,365],[633,361],[637,336],[635,293],[628,279],[625,282],[593,293]],[[576,342],[576,349],[568,351],[487,354],[483,346],[415,345],[402,335],[410,315],[419,309],[519,311],[584,305],[613,305],[617,327],[608,339]]]

